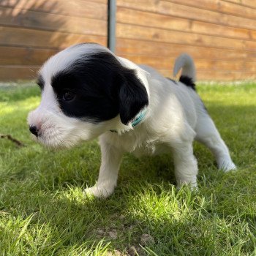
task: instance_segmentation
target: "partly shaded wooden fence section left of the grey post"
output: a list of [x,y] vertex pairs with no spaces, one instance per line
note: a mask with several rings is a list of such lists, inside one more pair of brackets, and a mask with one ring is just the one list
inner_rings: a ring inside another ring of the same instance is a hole
[[0,80],[31,79],[57,51],[107,45],[108,0],[0,0]]

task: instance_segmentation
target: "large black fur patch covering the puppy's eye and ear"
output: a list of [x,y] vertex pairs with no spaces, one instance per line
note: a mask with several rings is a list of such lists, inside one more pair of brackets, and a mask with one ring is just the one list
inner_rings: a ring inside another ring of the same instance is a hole
[[[51,80],[59,106],[67,116],[106,121],[120,114],[128,124],[148,105],[145,86],[135,71],[123,67],[108,52],[80,56]],[[65,92],[74,98],[67,101]]]

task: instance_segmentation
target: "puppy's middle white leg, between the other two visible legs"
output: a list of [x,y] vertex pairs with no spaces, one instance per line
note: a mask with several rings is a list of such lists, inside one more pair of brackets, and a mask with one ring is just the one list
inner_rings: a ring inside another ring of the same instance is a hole
[[173,147],[173,160],[177,187],[184,184],[197,187],[197,160],[193,154],[192,143],[178,143]]

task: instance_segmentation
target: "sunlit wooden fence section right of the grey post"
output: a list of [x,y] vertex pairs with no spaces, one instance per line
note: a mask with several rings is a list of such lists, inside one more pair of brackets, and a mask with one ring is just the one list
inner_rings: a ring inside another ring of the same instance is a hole
[[195,59],[200,80],[256,75],[256,1],[117,0],[117,50],[172,74],[180,53]]

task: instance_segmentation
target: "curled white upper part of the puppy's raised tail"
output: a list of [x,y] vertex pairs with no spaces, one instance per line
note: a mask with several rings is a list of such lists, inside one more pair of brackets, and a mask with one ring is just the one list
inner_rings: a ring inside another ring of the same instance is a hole
[[192,83],[195,83],[196,72],[195,64],[191,56],[187,53],[182,53],[175,61],[173,68],[173,76],[178,74],[178,71],[182,68],[180,81],[184,78],[190,78]]

